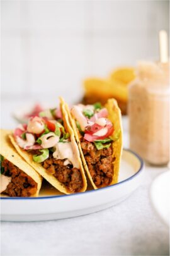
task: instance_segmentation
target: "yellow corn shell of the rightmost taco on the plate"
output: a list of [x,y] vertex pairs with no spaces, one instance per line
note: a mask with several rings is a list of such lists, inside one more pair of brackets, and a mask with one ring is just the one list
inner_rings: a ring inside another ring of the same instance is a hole
[[[111,135],[111,136],[114,136],[114,133],[116,133],[117,131],[120,130],[120,137],[118,138],[118,140],[111,143],[111,147],[113,147],[113,159],[115,159],[113,161],[113,168],[114,168],[113,169],[113,180],[110,184],[110,185],[113,185],[118,182],[120,161],[122,158],[122,133],[123,133],[123,131],[122,131],[122,116],[121,116],[121,111],[120,111],[115,99],[108,99],[105,107],[106,107],[106,109],[108,109],[108,119],[110,119],[110,121],[111,121],[111,123],[113,123],[113,127],[114,127],[114,132],[113,132],[113,135]],[[84,154],[81,149],[81,141],[80,141],[81,136],[79,134],[79,130],[77,129],[76,121],[74,120],[74,117],[71,115],[69,107],[66,103],[65,103],[65,109],[67,109],[67,114],[69,116],[69,120],[71,122],[72,128],[74,130],[74,135],[76,137],[76,141],[78,143],[79,150],[81,152],[81,158],[82,158],[82,162],[84,164],[84,169],[86,169],[86,173],[88,174],[88,178],[91,181],[93,188],[98,189],[98,187],[94,184],[93,179],[91,178],[91,174],[89,173],[88,165],[86,164],[86,160],[84,158]]]

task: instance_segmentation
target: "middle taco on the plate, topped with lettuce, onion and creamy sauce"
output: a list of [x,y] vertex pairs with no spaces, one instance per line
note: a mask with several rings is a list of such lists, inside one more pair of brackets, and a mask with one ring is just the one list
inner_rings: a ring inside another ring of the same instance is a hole
[[62,193],[84,192],[86,176],[63,104],[20,125],[10,136],[19,154]]

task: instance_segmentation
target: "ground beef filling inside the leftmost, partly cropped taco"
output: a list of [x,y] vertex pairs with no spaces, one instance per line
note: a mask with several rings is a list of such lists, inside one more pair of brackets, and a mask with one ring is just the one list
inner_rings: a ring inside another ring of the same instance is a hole
[[37,183],[7,159],[2,162],[3,175],[11,177],[3,193],[9,197],[30,197],[37,192]]

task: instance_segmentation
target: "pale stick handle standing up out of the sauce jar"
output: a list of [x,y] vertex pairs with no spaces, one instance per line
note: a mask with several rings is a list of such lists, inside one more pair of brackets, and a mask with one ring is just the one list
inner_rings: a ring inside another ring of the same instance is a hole
[[167,63],[168,43],[167,43],[167,33],[165,30],[159,31],[159,54],[160,54],[161,63]]

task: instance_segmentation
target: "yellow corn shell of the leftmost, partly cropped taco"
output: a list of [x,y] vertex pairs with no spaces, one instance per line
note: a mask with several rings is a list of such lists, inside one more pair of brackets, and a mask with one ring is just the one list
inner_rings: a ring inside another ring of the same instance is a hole
[[30,176],[37,183],[37,192],[33,197],[38,197],[38,193],[42,186],[42,177],[38,174],[35,169],[33,169],[23,158],[16,152],[11,141],[9,140],[9,130],[1,130],[1,147],[0,154],[3,155],[5,159],[12,162],[15,166],[21,169],[24,173]]

